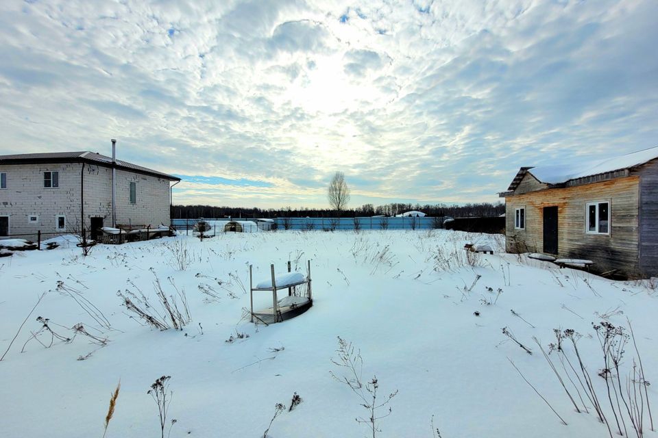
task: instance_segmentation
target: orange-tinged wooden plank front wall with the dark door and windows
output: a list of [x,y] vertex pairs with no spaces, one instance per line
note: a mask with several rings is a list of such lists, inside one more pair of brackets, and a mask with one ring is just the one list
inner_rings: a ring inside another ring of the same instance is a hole
[[[509,252],[544,250],[543,207],[558,207],[558,255],[591,259],[596,270],[619,269],[637,275],[639,177],[613,179],[570,188],[555,188],[507,196],[506,231]],[[585,233],[587,203],[609,201],[610,235]],[[526,229],[514,229],[514,214],[526,208]]]

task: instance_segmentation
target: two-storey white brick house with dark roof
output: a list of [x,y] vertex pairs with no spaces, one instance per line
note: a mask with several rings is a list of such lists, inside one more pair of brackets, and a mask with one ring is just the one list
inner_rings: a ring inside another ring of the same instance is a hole
[[0,155],[0,238],[169,225],[172,181],[180,178],[88,151]]

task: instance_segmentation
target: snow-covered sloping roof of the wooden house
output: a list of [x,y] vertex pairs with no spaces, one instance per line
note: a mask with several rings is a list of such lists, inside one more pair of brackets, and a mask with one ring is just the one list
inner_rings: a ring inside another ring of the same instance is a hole
[[517,173],[507,190],[515,190],[526,173],[530,173],[541,183],[562,184],[573,179],[592,177],[640,166],[658,158],[658,146],[625,155],[599,159],[585,163],[570,163],[555,166],[523,167]]

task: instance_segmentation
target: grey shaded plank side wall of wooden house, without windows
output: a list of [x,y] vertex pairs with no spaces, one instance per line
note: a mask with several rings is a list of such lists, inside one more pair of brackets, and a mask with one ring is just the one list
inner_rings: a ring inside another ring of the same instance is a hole
[[639,175],[639,268],[658,276],[658,159],[633,172]]

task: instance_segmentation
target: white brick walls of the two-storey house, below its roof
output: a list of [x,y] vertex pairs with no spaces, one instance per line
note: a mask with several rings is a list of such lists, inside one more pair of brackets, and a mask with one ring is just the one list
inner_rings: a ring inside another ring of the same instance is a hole
[[[44,188],[43,172],[59,172],[59,187]],[[89,218],[102,217],[104,226],[112,225],[112,170],[80,163],[19,164],[0,166],[7,174],[7,188],[0,189],[0,216],[10,216],[9,233],[19,238],[42,239],[56,233],[56,216],[66,216],[69,229],[82,228],[81,172],[84,175],[84,227]],[[130,182],[137,185],[136,203],[130,203]],[[169,180],[117,169],[117,224],[169,225]],[[36,223],[29,216],[38,216]]]

